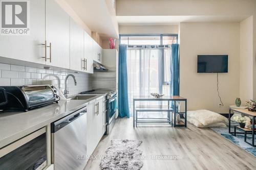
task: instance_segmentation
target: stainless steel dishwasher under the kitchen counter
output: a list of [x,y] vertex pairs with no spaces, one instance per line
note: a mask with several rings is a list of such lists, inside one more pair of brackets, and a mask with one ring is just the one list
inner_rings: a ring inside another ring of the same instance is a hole
[[87,163],[86,107],[51,124],[55,170],[82,170]]

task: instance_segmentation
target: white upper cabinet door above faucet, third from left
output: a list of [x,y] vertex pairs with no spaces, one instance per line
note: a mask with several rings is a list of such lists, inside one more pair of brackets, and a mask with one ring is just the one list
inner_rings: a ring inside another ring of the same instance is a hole
[[70,69],[86,71],[86,60],[83,57],[83,29],[70,18]]

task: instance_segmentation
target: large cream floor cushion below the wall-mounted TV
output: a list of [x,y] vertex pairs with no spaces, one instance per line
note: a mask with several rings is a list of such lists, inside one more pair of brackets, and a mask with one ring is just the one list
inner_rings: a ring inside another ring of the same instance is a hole
[[218,113],[209,110],[187,111],[187,117],[198,120],[203,126],[217,123],[225,123],[228,119]]

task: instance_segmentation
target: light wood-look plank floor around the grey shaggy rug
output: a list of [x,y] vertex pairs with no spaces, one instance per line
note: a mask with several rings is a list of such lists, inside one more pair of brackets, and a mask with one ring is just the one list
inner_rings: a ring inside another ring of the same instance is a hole
[[[143,160],[145,169],[256,169],[256,157],[212,131],[191,124],[187,128],[138,125],[132,118],[118,118],[111,134],[103,136],[93,155],[104,155],[111,139],[142,140],[143,155],[179,156],[177,160]],[[100,169],[100,159],[90,159],[86,170]]]

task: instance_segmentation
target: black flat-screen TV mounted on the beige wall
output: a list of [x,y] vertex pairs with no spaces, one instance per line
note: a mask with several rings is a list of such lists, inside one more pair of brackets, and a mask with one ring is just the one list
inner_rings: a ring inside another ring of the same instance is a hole
[[198,55],[197,72],[227,72],[228,55]]

